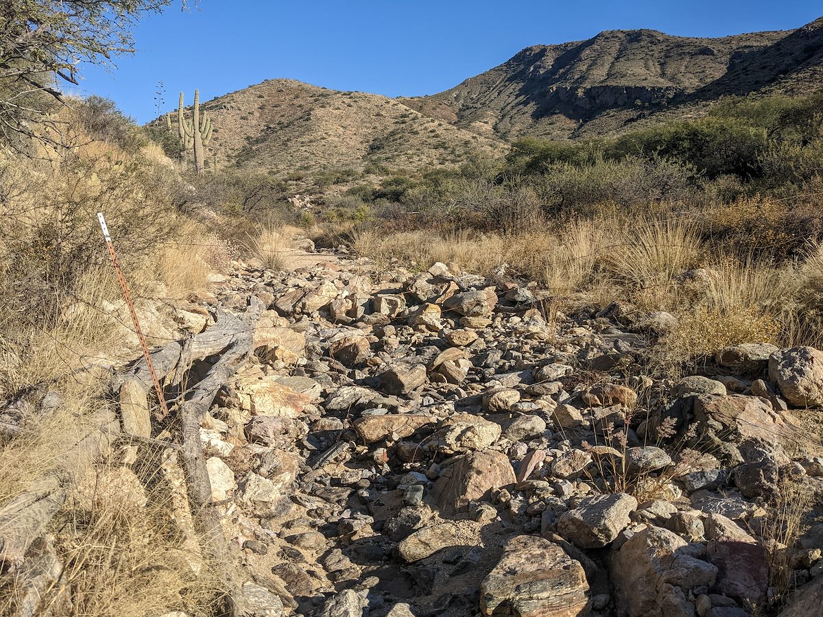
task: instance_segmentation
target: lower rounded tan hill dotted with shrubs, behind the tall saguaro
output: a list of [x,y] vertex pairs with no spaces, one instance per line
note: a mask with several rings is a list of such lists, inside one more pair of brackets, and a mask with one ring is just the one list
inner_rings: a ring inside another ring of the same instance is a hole
[[292,80],[263,81],[202,109],[214,120],[208,151],[220,164],[275,172],[432,168],[507,147],[397,100]]

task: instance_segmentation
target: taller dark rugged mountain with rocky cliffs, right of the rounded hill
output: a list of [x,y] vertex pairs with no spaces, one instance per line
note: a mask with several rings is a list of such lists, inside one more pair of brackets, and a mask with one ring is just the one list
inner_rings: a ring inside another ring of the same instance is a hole
[[610,30],[523,49],[437,95],[402,99],[486,136],[561,139],[695,113],[723,95],[823,87],[823,19],[798,30],[699,39]]

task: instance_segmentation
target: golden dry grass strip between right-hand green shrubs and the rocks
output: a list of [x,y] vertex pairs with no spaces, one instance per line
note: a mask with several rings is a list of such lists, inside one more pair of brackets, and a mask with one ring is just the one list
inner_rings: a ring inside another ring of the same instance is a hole
[[663,340],[667,364],[742,342],[823,342],[823,249],[811,249],[800,267],[724,253],[726,244],[701,240],[698,219],[671,212],[601,212],[514,235],[366,228],[351,233],[351,246],[419,270],[444,262],[486,275],[507,264],[573,304],[629,300],[674,313],[680,325]]

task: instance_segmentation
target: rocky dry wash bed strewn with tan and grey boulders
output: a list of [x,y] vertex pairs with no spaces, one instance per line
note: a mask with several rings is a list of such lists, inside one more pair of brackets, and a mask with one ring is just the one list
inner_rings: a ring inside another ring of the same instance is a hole
[[[567,316],[503,271],[317,257],[238,262],[210,301],[267,307],[200,429],[244,615],[745,617],[777,564],[808,582],[784,617],[808,615],[823,352],[649,376],[667,313]],[[810,527],[786,539],[770,504],[790,489]]]

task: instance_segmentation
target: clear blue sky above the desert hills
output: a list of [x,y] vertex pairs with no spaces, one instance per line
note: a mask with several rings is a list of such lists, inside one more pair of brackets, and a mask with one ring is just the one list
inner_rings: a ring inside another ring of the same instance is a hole
[[112,72],[84,70],[82,94],[114,99],[138,122],[185,90],[214,96],[288,77],[337,90],[427,95],[533,44],[601,30],[723,36],[788,30],[823,16],[820,0],[201,0],[179,1],[136,31],[138,52]]

